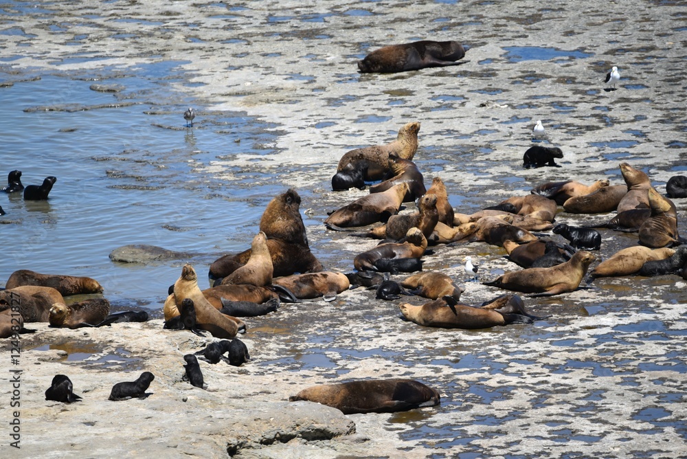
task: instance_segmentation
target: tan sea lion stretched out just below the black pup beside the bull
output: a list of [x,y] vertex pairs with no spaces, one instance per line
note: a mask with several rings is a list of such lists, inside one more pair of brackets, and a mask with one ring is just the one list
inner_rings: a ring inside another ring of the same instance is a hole
[[365,226],[378,221],[387,221],[401,208],[403,198],[408,192],[407,183],[389,188],[381,193],[372,193],[335,210],[324,221],[325,225],[335,227]]

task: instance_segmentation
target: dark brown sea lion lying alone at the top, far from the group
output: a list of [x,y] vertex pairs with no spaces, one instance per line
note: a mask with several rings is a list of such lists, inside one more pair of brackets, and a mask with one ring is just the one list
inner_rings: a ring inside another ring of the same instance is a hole
[[466,49],[457,41],[422,40],[376,49],[358,61],[361,74],[393,74],[398,71],[462,65]]

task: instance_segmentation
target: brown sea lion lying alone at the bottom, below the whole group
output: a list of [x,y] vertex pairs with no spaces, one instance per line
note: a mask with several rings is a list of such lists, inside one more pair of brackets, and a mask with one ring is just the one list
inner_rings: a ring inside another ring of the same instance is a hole
[[412,379],[368,379],[320,384],[290,396],[334,407],[343,414],[390,413],[439,404],[439,392]]

